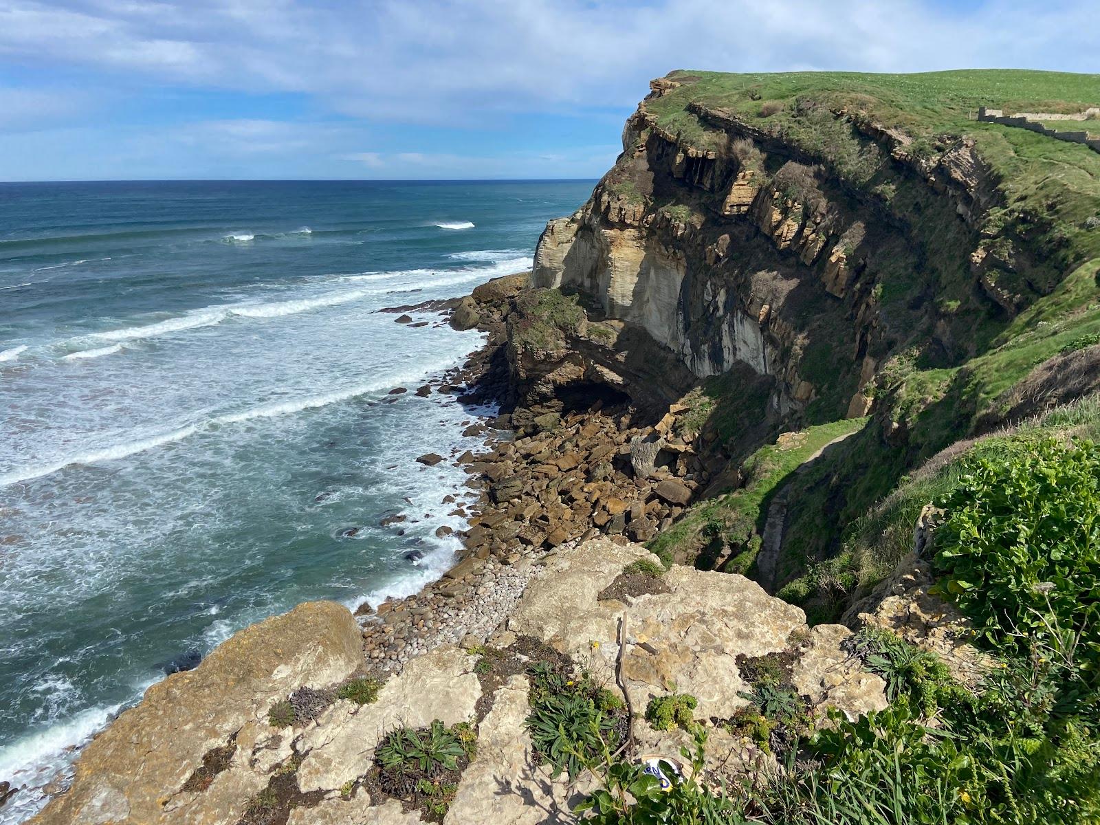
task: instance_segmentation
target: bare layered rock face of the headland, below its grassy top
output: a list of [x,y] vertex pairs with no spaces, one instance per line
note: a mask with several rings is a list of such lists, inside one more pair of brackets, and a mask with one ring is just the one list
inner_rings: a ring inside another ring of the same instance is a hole
[[813,402],[828,417],[865,415],[876,371],[916,341],[945,364],[966,353],[968,337],[934,295],[906,296],[899,311],[891,290],[908,292],[909,273],[980,283],[985,295],[968,296],[976,311],[1015,311],[1022,299],[988,276],[979,230],[997,191],[972,146],[917,161],[901,132],[826,113],[876,164],[857,187],[697,102],[684,112],[692,128],[670,131],[653,109],[680,85],[652,82],[614,168],[576,213],[547,226],[536,286],[590,294],[701,378],[735,364],[769,376],[770,414],[782,419]]

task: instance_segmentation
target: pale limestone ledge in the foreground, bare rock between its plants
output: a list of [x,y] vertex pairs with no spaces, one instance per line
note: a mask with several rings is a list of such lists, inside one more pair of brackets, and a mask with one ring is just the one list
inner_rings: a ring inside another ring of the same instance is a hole
[[[849,630],[810,631],[800,608],[748,579],[676,566],[664,576],[664,592],[620,601],[604,591],[648,551],[605,538],[564,548],[537,562],[538,572],[490,644],[529,663],[531,651],[549,645],[618,691],[632,714],[638,755],[675,758],[685,744],[683,732],[658,733],[644,719],[653,696],[694,694],[696,718],[706,725],[747,704],[738,694],[748,686],[739,654],[785,651],[793,683],[815,708],[855,716],[886,706],[882,680],[861,672],[842,650]],[[289,783],[293,801],[284,802],[283,816],[292,825],[411,825],[421,822],[420,813],[364,777],[388,730],[436,718],[471,721],[477,730],[476,756],[446,823],[569,820],[592,777],[574,785],[564,777],[552,780],[525,727],[527,676],[494,680],[479,675],[475,663],[470,652],[440,646],[389,676],[376,702],[337,700],[312,721],[276,729],[266,718],[275,702],[304,685],[337,684],[365,666],[361,630],[345,608],[301,605],[240,631],[196,670],[151,688],[88,746],[69,790],[32,823],[234,825],[252,821],[248,812],[257,794]],[[223,758],[210,770],[217,754]],[[760,770],[770,756],[719,725],[711,727],[708,758],[716,777],[732,778]],[[207,781],[196,782],[204,766]]]

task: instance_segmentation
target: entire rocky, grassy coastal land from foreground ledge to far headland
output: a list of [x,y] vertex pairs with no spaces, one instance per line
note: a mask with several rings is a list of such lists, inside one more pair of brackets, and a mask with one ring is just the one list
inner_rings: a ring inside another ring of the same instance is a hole
[[487,336],[458,564],[238,634],[32,822],[1096,822],[1100,155],[976,119],[1093,95],[654,80],[529,283],[394,310]]

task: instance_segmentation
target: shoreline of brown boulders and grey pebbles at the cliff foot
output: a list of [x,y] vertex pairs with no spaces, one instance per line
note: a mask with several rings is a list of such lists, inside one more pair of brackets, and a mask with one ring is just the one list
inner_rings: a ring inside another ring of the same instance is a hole
[[[484,345],[461,367],[417,392],[453,393],[471,407],[512,409],[468,428],[465,435],[486,436],[484,451],[416,459],[463,466],[479,497],[464,507],[457,503],[458,491],[443,499],[455,503],[455,514],[469,524],[458,534],[464,550],[451,570],[415,595],[356,612],[367,666],[380,673],[399,671],[441,645],[490,641],[504,632],[528,583],[558,551],[597,535],[648,541],[683,512],[705,477],[693,437],[678,426],[678,415],[686,410],[682,405],[653,425],[636,420],[644,417],[628,400],[608,407],[595,400],[561,413],[516,405],[506,318],[525,280],[505,276],[472,297],[384,310],[438,311],[452,326],[486,332]],[[534,424],[513,432],[513,413]]]

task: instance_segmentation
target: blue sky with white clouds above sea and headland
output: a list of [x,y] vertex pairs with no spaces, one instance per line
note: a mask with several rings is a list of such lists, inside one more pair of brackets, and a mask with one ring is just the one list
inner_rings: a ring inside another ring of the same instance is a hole
[[0,0],[0,180],[591,178],[675,68],[991,67],[1097,0]]

